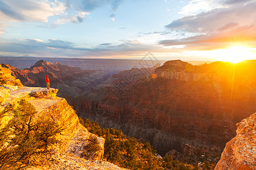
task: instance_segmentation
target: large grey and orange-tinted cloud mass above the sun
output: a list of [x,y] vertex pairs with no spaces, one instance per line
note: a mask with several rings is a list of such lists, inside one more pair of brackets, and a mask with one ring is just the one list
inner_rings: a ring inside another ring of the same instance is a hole
[[218,3],[228,6],[183,16],[165,26],[172,32],[193,33],[193,36],[162,40],[159,44],[185,45],[184,50],[212,50],[236,42],[256,47],[256,2],[230,0]]

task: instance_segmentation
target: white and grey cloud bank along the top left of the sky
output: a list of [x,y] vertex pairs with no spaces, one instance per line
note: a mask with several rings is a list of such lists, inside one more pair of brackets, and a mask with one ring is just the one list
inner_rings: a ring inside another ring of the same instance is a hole
[[85,15],[106,5],[112,10],[112,20],[115,20],[113,11],[117,11],[122,0],[0,0],[0,35],[6,23],[38,22],[48,23],[49,17],[56,16],[53,23],[39,25],[43,28],[55,28],[57,25],[84,22]]

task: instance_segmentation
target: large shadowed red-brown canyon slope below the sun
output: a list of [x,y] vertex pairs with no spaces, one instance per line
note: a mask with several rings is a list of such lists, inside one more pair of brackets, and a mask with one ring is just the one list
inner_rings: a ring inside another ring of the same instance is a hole
[[147,139],[160,154],[186,143],[223,149],[236,123],[256,111],[255,68],[255,61],[168,61],[151,76],[113,75],[108,85],[67,100],[80,117]]

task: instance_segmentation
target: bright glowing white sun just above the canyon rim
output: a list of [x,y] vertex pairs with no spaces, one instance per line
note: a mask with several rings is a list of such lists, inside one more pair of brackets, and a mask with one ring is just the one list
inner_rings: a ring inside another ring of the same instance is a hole
[[238,63],[255,57],[252,49],[247,46],[237,45],[227,49],[220,49],[218,58],[221,61]]

